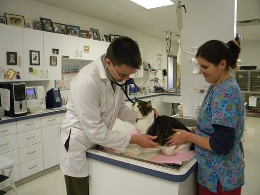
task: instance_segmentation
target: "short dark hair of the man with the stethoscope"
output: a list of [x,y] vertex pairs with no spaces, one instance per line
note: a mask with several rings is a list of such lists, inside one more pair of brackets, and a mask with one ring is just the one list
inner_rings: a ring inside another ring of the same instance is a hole
[[106,58],[115,66],[125,64],[132,68],[140,69],[141,54],[138,45],[128,37],[114,39],[106,51]]

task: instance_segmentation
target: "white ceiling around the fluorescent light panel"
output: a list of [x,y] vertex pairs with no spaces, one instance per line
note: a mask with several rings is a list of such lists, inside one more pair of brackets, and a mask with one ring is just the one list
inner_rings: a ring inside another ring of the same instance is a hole
[[[176,5],[145,9],[130,0],[37,0],[165,39],[178,33]],[[116,5],[116,6],[115,6]],[[260,19],[260,0],[238,0],[237,20]],[[242,41],[260,41],[260,24],[240,26]],[[178,37],[173,36],[177,42]]]

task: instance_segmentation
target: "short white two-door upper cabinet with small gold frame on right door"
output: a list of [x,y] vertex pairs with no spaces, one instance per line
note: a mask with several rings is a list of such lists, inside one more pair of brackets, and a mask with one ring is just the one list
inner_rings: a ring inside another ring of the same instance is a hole
[[93,53],[92,39],[61,35],[62,56],[69,59],[93,60]]

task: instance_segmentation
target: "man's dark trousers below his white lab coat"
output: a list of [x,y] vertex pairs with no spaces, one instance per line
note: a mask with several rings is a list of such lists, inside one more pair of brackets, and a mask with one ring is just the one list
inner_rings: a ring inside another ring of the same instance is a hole
[[66,176],[65,184],[67,195],[89,195],[88,177]]

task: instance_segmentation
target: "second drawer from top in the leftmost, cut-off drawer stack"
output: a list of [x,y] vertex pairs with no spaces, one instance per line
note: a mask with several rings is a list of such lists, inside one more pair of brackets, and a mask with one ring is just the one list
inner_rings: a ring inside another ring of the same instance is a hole
[[17,134],[0,137],[0,154],[18,149]]

